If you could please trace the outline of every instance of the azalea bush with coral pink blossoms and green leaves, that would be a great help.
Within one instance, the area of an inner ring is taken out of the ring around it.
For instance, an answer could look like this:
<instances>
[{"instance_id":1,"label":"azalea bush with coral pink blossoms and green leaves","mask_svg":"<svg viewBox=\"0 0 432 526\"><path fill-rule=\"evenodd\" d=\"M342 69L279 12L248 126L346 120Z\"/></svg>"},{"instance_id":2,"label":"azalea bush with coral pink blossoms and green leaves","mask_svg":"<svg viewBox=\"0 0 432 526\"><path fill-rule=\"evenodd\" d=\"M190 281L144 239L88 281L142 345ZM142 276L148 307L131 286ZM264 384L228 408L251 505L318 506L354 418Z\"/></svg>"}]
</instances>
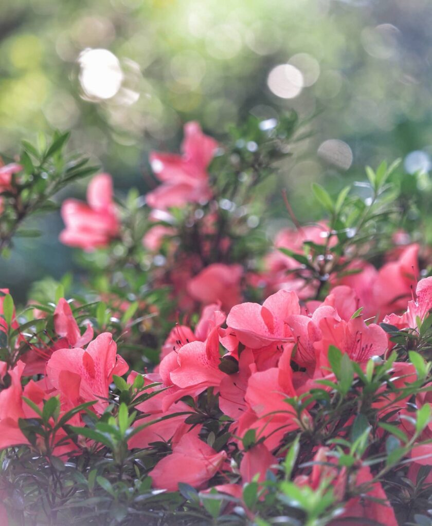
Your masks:
<instances>
[{"instance_id":1,"label":"azalea bush with coral pink blossoms and green leaves","mask_svg":"<svg viewBox=\"0 0 432 526\"><path fill-rule=\"evenodd\" d=\"M1 291L2 524L432 524L430 184L383 162L301 224L306 135L187 123L145 196L67 134L0 168L3 257L92 175L61 205L83 272Z\"/></svg>"}]
</instances>

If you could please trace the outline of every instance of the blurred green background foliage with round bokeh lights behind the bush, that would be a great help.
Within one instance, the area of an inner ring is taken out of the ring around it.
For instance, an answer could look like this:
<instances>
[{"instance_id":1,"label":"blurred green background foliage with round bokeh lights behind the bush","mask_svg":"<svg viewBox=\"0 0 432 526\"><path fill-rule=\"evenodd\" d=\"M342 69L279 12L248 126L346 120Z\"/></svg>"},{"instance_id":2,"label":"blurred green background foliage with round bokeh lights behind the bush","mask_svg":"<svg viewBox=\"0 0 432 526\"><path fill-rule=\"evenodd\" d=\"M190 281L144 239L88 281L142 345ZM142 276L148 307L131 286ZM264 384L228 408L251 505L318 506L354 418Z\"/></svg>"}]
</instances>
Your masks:
<instances>
[{"instance_id":1,"label":"blurred green background foliage with round bokeh lights behind the bush","mask_svg":"<svg viewBox=\"0 0 432 526\"><path fill-rule=\"evenodd\" d=\"M396 157L430 170L431 23L429 0L3 0L0 152L72 129L72 147L117 188L145 191L149 151L178 148L187 120L222 137L249 114L293 108L313 134L280 187L313 219L311 180L341 186ZM23 298L35 278L72 268L61 228L53 214L42 238L18 241L0 285Z\"/></svg>"}]
</instances>

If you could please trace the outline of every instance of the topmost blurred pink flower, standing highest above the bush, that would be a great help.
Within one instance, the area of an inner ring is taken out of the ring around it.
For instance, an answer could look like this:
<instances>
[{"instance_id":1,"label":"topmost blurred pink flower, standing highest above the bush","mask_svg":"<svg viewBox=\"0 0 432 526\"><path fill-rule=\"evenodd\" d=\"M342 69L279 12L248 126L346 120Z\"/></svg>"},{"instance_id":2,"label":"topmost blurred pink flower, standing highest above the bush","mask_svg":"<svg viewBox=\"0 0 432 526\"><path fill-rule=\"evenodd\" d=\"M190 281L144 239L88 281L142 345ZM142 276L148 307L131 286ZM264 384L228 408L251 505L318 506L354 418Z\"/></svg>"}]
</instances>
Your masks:
<instances>
[{"instance_id":1,"label":"topmost blurred pink flower, standing highest above the bush","mask_svg":"<svg viewBox=\"0 0 432 526\"><path fill-rule=\"evenodd\" d=\"M152 153L150 162L162 182L146 195L152 208L166 209L211 198L207 168L218 143L202 133L196 122L184 126L182 155Z\"/></svg>"}]
</instances>

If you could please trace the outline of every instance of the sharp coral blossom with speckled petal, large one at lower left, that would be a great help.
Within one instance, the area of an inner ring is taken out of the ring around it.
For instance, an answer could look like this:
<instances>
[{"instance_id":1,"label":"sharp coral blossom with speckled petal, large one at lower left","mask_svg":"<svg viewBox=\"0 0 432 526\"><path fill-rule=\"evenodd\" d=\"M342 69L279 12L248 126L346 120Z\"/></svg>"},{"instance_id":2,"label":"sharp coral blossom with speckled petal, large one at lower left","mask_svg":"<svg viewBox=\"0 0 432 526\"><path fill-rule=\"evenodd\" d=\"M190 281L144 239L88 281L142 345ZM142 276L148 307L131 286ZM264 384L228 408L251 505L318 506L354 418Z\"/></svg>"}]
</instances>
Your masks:
<instances>
[{"instance_id":1,"label":"sharp coral blossom with speckled petal, large one at lower left","mask_svg":"<svg viewBox=\"0 0 432 526\"><path fill-rule=\"evenodd\" d=\"M59 349L46 365L48 379L66 398L82 403L97 400L96 412L107 406L105 399L113 375L123 375L128 367L116 354L117 345L109 332L103 332L87 349Z\"/></svg>"}]
</instances>

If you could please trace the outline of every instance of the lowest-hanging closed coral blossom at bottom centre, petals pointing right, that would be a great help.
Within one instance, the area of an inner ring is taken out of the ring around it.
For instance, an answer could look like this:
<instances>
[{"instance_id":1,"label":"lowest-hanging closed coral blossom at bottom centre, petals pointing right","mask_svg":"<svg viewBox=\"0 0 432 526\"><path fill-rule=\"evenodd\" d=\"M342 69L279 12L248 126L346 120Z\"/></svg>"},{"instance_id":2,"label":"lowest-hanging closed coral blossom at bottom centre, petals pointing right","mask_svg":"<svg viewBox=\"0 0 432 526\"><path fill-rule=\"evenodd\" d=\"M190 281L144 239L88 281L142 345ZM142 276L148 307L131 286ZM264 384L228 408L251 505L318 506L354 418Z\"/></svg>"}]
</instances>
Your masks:
<instances>
[{"instance_id":1,"label":"lowest-hanging closed coral blossom at bottom centre, petals pointing right","mask_svg":"<svg viewBox=\"0 0 432 526\"><path fill-rule=\"evenodd\" d=\"M172 454L160 460L150 471L155 488L175 491L179 482L202 488L227 458L225 451L214 451L200 440L197 431L185 434L173 447Z\"/></svg>"}]
</instances>

